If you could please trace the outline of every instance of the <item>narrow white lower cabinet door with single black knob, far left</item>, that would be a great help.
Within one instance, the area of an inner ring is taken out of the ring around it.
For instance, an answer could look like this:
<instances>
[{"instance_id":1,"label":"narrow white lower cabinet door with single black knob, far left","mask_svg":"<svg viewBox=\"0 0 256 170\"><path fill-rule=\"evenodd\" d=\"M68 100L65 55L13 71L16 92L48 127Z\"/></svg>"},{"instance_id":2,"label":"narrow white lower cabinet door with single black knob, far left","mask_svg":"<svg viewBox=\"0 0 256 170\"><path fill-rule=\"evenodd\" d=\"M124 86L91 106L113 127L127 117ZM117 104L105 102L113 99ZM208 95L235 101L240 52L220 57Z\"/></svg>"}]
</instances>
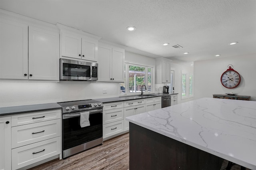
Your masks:
<instances>
[{"instance_id":1,"label":"narrow white lower cabinet door with single black knob, far left","mask_svg":"<svg viewBox=\"0 0 256 170\"><path fill-rule=\"evenodd\" d=\"M0 117L0 170L11 170L11 117Z\"/></svg>"}]
</instances>

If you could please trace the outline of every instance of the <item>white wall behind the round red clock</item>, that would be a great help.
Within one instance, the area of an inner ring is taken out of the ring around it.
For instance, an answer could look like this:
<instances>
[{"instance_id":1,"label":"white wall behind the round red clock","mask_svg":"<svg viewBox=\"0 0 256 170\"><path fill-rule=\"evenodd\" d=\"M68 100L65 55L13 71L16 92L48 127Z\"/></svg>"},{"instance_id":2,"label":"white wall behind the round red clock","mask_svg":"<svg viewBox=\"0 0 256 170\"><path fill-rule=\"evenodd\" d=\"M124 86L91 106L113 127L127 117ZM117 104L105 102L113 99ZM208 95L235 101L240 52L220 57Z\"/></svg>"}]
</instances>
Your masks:
<instances>
[{"instance_id":1,"label":"white wall behind the round red clock","mask_svg":"<svg viewBox=\"0 0 256 170\"><path fill-rule=\"evenodd\" d=\"M220 76L229 64L234 66L233 69L241 77L240 84L234 89L228 89L220 83ZM230 92L251 96L251 100L256 101L256 53L194 62L195 99Z\"/></svg>"}]
</instances>

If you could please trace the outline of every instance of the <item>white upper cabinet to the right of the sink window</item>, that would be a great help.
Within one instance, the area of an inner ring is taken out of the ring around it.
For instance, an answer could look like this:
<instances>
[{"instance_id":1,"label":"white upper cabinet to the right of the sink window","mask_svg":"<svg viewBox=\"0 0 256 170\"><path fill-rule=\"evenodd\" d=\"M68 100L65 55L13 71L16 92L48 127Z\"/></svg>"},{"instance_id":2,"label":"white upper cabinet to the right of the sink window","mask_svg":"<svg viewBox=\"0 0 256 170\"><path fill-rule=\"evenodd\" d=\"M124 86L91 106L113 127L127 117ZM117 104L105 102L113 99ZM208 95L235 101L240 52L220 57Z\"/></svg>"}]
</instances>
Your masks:
<instances>
[{"instance_id":1,"label":"white upper cabinet to the right of the sink window","mask_svg":"<svg viewBox=\"0 0 256 170\"><path fill-rule=\"evenodd\" d=\"M171 60L156 59L156 83L170 83Z\"/></svg>"}]
</instances>

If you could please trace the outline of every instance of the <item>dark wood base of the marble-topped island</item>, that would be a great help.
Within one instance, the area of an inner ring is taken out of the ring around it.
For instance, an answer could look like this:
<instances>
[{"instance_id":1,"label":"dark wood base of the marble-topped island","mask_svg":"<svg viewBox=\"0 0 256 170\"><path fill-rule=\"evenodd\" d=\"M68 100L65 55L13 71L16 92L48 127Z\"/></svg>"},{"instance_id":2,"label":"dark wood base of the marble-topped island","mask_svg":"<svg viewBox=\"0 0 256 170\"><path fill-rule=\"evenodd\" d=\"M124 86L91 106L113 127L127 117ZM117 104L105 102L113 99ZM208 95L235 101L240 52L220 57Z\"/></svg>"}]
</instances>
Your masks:
<instances>
[{"instance_id":1,"label":"dark wood base of the marble-topped island","mask_svg":"<svg viewBox=\"0 0 256 170\"><path fill-rule=\"evenodd\" d=\"M223 160L130 123L130 170L219 170Z\"/></svg>"}]
</instances>

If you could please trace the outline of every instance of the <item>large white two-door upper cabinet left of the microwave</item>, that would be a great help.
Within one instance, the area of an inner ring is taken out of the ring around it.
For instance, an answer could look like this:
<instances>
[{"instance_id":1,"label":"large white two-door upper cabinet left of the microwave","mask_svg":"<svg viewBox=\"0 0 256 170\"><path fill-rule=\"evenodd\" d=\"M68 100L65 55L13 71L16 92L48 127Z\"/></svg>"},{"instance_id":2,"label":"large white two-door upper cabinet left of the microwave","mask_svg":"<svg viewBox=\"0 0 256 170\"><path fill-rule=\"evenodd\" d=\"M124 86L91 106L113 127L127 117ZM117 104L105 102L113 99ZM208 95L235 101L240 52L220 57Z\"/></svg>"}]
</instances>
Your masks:
<instances>
[{"instance_id":1,"label":"large white two-door upper cabinet left of the microwave","mask_svg":"<svg viewBox=\"0 0 256 170\"><path fill-rule=\"evenodd\" d=\"M58 29L22 21L25 17L0 17L0 79L58 81Z\"/></svg>"}]
</instances>

